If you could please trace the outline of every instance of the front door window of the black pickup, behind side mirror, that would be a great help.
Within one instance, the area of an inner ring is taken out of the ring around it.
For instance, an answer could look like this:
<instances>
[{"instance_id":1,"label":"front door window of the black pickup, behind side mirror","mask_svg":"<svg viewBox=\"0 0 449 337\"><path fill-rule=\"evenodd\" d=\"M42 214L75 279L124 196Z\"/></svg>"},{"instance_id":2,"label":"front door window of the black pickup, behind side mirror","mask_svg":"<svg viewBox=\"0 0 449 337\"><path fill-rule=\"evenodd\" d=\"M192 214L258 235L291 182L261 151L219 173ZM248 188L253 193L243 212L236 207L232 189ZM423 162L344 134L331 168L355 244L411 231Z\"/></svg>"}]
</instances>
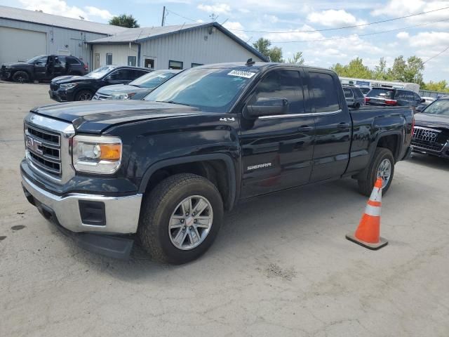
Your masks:
<instances>
[{"instance_id":1,"label":"front door window of the black pickup, behind side mirror","mask_svg":"<svg viewBox=\"0 0 449 337\"><path fill-rule=\"evenodd\" d=\"M274 70L269 72L257 84L250 102L258 98L286 98L288 100L288 114L304 113L304 94L300 73L296 70Z\"/></svg>"}]
</instances>

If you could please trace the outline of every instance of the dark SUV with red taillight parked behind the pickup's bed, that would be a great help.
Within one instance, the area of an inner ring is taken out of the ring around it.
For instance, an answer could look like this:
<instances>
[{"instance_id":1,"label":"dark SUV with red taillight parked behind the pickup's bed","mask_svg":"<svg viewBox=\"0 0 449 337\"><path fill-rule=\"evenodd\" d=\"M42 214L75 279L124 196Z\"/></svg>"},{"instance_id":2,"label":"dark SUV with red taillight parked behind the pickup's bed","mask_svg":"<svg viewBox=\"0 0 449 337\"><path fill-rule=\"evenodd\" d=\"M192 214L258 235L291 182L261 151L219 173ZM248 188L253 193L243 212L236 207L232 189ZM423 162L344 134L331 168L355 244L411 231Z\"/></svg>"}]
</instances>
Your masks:
<instances>
[{"instance_id":1,"label":"dark SUV with red taillight parked behind the pickup's bed","mask_svg":"<svg viewBox=\"0 0 449 337\"><path fill-rule=\"evenodd\" d=\"M401 107L417 107L425 100L410 90L398 88L373 88L366 95L368 105L391 105Z\"/></svg>"}]
</instances>

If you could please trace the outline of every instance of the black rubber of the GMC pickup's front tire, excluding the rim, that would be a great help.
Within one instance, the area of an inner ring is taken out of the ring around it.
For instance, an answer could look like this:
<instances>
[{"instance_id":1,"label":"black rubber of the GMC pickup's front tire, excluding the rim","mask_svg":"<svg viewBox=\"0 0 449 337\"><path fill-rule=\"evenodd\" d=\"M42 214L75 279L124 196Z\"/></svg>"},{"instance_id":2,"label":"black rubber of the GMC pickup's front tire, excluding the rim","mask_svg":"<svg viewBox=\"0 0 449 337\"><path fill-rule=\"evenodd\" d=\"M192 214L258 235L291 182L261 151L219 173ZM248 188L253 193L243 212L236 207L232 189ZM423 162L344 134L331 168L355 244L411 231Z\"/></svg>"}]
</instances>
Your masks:
<instances>
[{"instance_id":1,"label":"black rubber of the GMC pickup's front tire, excluding the rim","mask_svg":"<svg viewBox=\"0 0 449 337\"><path fill-rule=\"evenodd\" d=\"M178 204L192 195L205 197L213 209L213 223L203 242L189 250L178 249L170 239L168 224ZM157 261L182 264L205 253L222 225L223 201L217 187L209 180L191 173L181 173L162 180L142 201L138 237L142 246Z\"/></svg>"}]
</instances>

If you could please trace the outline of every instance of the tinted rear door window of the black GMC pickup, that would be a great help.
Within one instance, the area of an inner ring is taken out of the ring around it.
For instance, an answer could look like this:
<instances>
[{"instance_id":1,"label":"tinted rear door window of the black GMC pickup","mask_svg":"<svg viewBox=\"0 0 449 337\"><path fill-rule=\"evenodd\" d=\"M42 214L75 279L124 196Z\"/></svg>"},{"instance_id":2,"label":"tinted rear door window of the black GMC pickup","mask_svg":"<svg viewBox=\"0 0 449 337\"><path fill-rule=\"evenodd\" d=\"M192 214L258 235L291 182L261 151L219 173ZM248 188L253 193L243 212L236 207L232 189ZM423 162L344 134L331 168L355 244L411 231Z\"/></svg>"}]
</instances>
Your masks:
<instances>
[{"instance_id":1,"label":"tinted rear door window of the black GMC pickup","mask_svg":"<svg viewBox=\"0 0 449 337\"><path fill-rule=\"evenodd\" d=\"M330 74L309 72L311 105L315 112L333 112L340 109L337 85Z\"/></svg>"}]
</instances>

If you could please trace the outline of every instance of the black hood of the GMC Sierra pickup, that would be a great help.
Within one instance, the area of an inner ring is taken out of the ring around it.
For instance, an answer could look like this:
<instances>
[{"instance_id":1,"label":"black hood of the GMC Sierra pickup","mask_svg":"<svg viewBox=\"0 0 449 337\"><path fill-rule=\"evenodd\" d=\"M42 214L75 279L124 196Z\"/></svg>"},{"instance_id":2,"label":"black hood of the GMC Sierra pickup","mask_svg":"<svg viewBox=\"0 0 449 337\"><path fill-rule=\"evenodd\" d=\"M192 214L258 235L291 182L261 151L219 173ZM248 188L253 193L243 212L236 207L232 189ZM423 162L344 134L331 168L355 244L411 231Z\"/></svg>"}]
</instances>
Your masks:
<instances>
[{"instance_id":1,"label":"black hood of the GMC Sierra pickup","mask_svg":"<svg viewBox=\"0 0 449 337\"><path fill-rule=\"evenodd\" d=\"M114 124L132 121L205 113L187 105L147 102L145 100L100 100L58 103L35 107L31 112L71 122L76 131L83 133L101 133Z\"/></svg>"}]
</instances>

